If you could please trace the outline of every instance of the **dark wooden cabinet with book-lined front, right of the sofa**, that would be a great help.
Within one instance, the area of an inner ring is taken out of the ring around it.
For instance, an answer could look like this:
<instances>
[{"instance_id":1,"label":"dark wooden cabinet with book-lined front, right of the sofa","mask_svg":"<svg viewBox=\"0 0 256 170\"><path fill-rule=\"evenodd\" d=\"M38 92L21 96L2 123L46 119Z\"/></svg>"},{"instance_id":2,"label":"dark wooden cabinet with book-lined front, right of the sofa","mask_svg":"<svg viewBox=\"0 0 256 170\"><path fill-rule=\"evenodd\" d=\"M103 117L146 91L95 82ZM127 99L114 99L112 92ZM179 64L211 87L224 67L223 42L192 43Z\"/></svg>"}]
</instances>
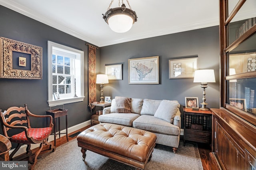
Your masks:
<instances>
[{"instance_id":1,"label":"dark wooden cabinet with book-lined front, right of the sofa","mask_svg":"<svg viewBox=\"0 0 256 170\"><path fill-rule=\"evenodd\" d=\"M183 141L212 143L212 111L192 111L183 108L184 136Z\"/></svg>"}]
</instances>

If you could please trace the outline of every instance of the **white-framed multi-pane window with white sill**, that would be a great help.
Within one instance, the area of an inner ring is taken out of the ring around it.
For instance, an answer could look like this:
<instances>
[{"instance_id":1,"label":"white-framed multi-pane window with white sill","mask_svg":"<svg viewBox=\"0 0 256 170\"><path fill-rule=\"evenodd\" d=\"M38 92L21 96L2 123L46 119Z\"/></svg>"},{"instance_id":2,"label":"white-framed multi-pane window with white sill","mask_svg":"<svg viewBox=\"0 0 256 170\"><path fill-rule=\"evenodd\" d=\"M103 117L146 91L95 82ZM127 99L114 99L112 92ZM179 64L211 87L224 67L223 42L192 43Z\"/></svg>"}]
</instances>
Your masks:
<instances>
[{"instance_id":1,"label":"white-framed multi-pane window with white sill","mask_svg":"<svg viewBox=\"0 0 256 170\"><path fill-rule=\"evenodd\" d=\"M84 52L48 41L48 104L84 100Z\"/></svg>"}]
</instances>

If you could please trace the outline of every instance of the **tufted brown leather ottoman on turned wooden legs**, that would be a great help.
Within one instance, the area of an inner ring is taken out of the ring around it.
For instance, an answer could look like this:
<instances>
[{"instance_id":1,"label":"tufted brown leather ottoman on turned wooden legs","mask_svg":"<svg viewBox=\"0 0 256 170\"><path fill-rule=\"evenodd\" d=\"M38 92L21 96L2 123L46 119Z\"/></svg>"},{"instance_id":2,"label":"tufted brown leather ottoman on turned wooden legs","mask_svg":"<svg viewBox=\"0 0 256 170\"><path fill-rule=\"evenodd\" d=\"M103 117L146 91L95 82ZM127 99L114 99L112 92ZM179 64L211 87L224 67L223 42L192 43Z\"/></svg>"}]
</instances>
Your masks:
<instances>
[{"instance_id":1,"label":"tufted brown leather ottoman on turned wooden legs","mask_svg":"<svg viewBox=\"0 0 256 170\"><path fill-rule=\"evenodd\" d=\"M78 147L82 148L83 161L86 150L91 150L124 164L144 169L156 145L156 135L132 127L100 123L80 133L77 141Z\"/></svg>"}]
</instances>

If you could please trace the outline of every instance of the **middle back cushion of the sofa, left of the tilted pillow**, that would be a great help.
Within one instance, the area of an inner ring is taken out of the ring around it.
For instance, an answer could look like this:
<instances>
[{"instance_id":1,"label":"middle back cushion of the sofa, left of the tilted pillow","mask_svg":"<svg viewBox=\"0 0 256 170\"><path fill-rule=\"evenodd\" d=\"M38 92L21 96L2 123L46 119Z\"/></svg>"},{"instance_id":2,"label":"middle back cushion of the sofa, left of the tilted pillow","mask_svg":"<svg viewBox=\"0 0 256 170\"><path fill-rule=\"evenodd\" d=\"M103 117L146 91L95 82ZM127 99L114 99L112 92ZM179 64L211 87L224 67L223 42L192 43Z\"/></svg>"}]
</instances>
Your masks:
<instances>
[{"instance_id":1,"label":"middle back cushion of the sofa, left of the tilted pillow","mask_svg":"<svg viewBox=\"0 0 256 170\"><path fill-rule=\"evenodd\" d=\"M140 114L154 115L162 100L144 99Z\"/></svg>"}]
</instances>

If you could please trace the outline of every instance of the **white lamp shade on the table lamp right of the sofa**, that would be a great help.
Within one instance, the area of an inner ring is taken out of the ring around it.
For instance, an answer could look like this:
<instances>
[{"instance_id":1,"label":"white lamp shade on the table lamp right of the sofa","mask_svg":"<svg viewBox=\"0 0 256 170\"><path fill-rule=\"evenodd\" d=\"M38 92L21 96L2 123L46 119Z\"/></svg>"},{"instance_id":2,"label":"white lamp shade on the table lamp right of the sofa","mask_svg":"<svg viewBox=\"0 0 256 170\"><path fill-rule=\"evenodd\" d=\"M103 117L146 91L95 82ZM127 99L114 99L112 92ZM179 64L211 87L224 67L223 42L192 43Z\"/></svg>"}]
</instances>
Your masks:
<instances>
[{"instance_id":1,"label":"white lamp shade on the table lamp right of the sofa","mask_svg":"<svg viewBox=\"0 0 256 170\"><path fill-rule=\"evenodd\" d=\"M215 82L214 70L196 70L194 75L194 83Z\"/></svg>"}]
</instances>

